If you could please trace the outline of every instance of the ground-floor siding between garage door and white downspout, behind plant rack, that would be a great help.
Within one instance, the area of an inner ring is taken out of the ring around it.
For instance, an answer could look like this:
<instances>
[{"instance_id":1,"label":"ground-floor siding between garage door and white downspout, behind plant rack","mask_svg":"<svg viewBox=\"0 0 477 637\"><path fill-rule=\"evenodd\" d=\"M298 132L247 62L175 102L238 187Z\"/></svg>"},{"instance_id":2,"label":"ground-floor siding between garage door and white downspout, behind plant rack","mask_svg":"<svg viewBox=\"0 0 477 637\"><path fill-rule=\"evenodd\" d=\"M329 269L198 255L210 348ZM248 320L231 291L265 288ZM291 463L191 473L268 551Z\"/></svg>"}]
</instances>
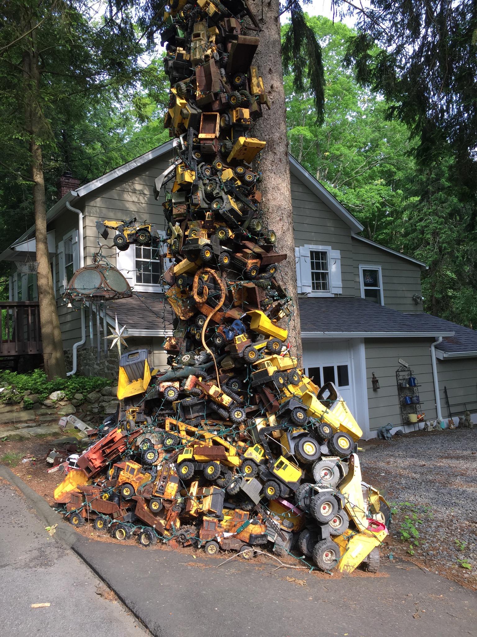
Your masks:
<instances>
[{"instance_id":1,"label":"ground-floor siding between garage door and white downspout, behind plant rack","mask_svg":"<svg viewBox=\"0 0 477 637\"><path fill-rule=\"evenodd\" d=\"M366 386L368 389L368 410L370 432L375 432L391 422L394 426L403 426L399 398L397 396L396 369L398 359L410 364L417 378L422 411L426 420L437 417L434 381L430 345L432 339L415 338L412 340L366 339ZM379 380L380 389L373 390L372 373Z\"/></svg>"}]
</instances>

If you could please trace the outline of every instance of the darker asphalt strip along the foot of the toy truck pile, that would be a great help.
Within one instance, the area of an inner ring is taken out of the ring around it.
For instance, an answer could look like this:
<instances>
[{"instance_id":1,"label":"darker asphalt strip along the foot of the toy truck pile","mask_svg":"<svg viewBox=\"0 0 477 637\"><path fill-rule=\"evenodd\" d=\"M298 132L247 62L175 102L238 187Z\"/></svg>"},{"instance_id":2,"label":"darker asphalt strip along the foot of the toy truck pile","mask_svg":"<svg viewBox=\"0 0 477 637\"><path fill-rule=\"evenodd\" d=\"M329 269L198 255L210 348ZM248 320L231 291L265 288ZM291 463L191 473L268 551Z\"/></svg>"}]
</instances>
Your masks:
<instances>
[{"instance_id":1,"label":"darker asphalt strip along the foot of the toy truck pile","mask_svg":"<svg viewBox=\"0 0 477 637\"><path fill-rule=\"evenodd\" d=\"M49 524L59 521L46 501L17 476L4 467L0 467L0 475L17 484ZM18 514L24 515L24 508ZM27 533L32 521L20 519L24 520L23 532ZM4 528L4 520L5 517L0 520L0 529ZM41 532L45 533L43 526ZM58 532L155 637L375 637L378 634L460 637L475 634L476 594L409 562L388 561L377 575L355 571L352 576L339 578L294 569L272 572L277 566L273 559L270 565L233 559L219 566L223 559L207 557L200 550L195 552L194 558L191 552L141 548L134 540L124 544L88 540L62 522ZM0 536L1 533L4 531L0 530ZM287 577L305 580L305 585L288 581ZM54 582L54 577L48 582L52 580ZM3 580L0 590L2 587ZM46 595L48 586L41 590ZM12 597L10 590L8 594ZM71 596L71 608L83 603L83 596L88 605L91 597L88 582L81 586L81 591L73 586L65 595ZM21 612L17 614L20 617L17 621L23 621L22 613L30 612L29 605L34 601L51 600L18 599L16 608ZM3 612L0 605L0 622ZM91 617L92 613L88 611L88 615ZM130 620L124 614L121 617ZM102 632L93 632L93 628L100 625L95 619L87 624L80 619L76 627L74 622L70 624L75 634L112 634L106 629L107 624ZM116 634L127 637L135 634L127 632L128 626L121 624ZM28 637L36 633L20 634ZM47 634L54 637L64 631Z\"/></svg>"}]
</instances>

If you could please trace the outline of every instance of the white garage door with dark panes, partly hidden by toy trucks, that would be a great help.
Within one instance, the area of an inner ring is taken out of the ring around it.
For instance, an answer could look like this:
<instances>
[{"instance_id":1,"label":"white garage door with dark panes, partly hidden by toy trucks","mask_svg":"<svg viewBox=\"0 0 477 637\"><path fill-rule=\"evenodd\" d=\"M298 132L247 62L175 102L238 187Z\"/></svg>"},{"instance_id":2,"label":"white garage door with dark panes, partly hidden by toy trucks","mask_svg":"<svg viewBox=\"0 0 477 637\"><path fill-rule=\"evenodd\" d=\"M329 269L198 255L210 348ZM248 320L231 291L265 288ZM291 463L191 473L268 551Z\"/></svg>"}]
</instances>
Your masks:
<instances>
[{"instance_id":1,"label":"white garage door with dark panes, partly hidden by toy trucks","mask_svg":"<svg viewBox=\"0 0 477 637\"><path fill-rule=\"evenodd\" d=\"M355 413L353 373L349 341L303 341L303 363L307 376L321 387L332 382Z\"/></svg>"}]
</instances>

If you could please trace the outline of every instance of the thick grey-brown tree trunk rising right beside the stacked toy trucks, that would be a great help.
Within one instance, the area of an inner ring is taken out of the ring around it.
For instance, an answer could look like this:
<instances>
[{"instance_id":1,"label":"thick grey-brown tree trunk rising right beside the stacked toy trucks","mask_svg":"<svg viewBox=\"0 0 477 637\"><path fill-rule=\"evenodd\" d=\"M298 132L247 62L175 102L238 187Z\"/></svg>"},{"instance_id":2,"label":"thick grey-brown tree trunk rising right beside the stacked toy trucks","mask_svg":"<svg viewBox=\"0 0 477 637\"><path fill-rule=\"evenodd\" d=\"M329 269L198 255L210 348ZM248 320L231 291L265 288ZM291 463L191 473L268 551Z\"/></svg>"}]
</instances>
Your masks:
<instances>
[{"instance_id":1,"label":"thick grey-brown tree trunk rising right beside the stacked toy trucks","mask_svg":"<svg viewBox=\"0 0 477 637\"><path fill-rule=\"evenodd\" d=\"M280 264L280 274L284 287L288 290L294 304L289 323L289 340L294 353L301 360L300 310L296 292L293 208L280 40L280 5L279 0L270 0L263 4L262 0L251 0L250 6L261 27L260 44L254 57L254 64L258 66L259 74L263 77L265 90L272 104L270 111L263 107L263 117L252 129L252 136L266 141L259 163L259 169L263 173L262 209L268 227L277 233L277 250L288 255L287 260Z\"/></svg>"}]
</instances>

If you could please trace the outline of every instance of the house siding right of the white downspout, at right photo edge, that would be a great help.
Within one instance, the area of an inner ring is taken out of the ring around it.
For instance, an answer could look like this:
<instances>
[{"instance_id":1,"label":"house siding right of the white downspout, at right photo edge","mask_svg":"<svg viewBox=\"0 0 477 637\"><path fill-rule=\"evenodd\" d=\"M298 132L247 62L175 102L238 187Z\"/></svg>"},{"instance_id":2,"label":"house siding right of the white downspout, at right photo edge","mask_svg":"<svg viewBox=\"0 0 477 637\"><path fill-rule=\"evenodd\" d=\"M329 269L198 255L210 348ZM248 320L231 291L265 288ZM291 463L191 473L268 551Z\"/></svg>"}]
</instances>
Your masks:
<instances>
[{"instance_id":1,"label":"house siding right of the white downspout, at right photo edge","mask_svg":"<svg viewBox=\"0 0 477 637\"><path fill-rule=\"evenodd\" d=\"M473 414L477 413L477 358L438 360L437 369L443 418L448 417L444 387L447 388L455 424L466 408Z\"/></svg>"}]
</instances>

